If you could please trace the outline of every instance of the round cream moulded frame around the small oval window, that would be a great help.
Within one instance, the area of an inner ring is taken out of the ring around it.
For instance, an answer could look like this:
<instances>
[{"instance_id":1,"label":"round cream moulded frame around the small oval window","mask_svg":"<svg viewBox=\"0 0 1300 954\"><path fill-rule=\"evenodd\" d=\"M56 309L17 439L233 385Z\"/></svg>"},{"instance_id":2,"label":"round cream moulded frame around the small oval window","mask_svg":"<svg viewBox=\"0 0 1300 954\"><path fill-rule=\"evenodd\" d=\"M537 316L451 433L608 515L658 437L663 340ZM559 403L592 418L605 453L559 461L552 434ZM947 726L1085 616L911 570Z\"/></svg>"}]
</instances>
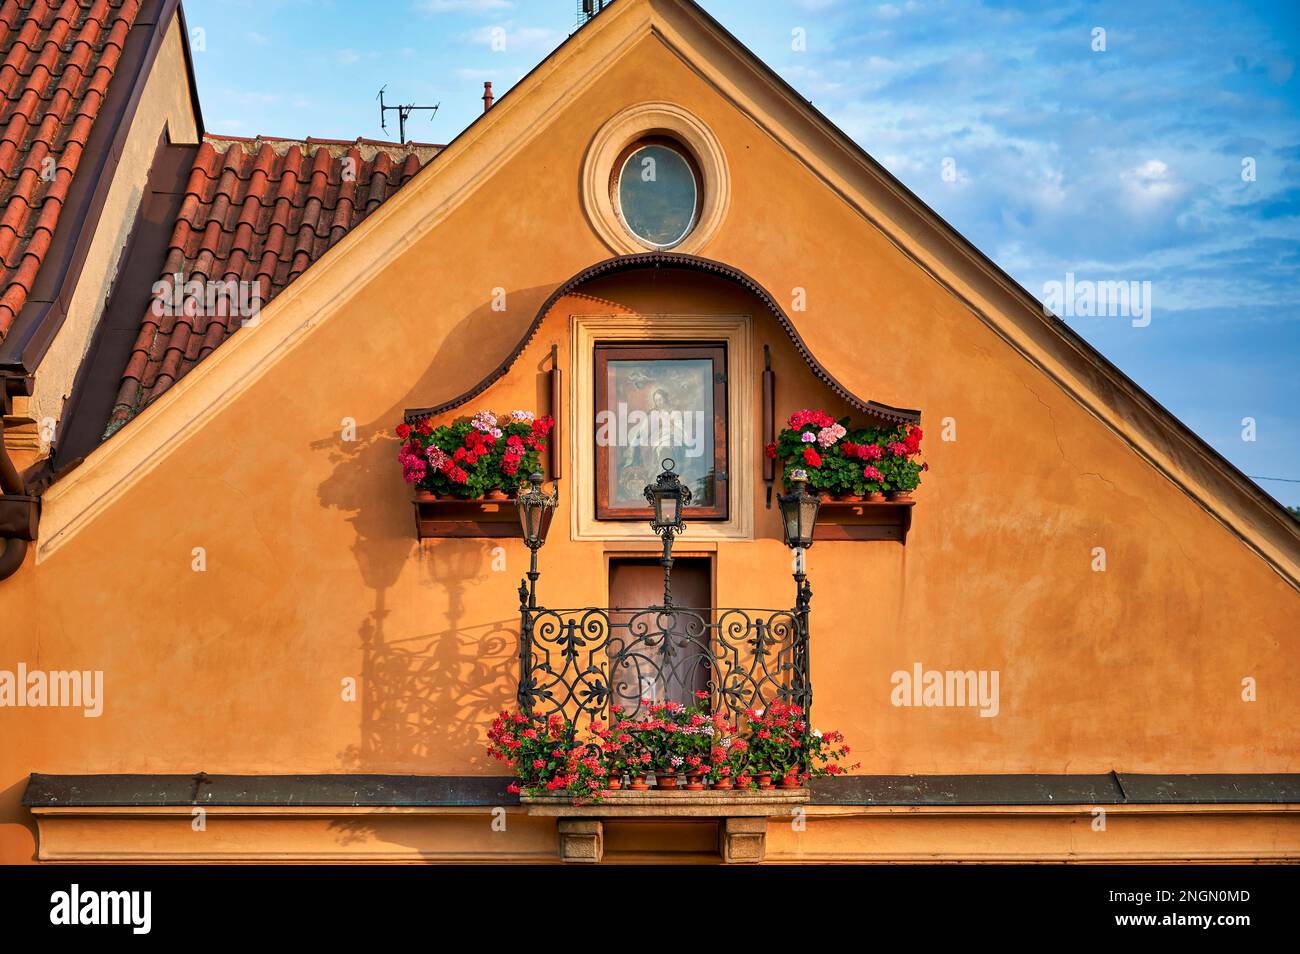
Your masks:
<instances>
[{"instance_id":1,"label":"round cream moulded frame around the small oval window","mask_svg":"<svg viewBox=\"0 0 1300 954\"><path fill-rule=\"evenodd\" d=\"M623 159L647 140L662 139L693 162L696 224L673 246L638 238L623 221L615 188ZM582 208L592 229L618 255L646 251L698 253L718 233L731 203L731 174L718 136L694 114L672 103L641 103L616 113L597 130L582 160Z\"/></svg>"}]
</instances>

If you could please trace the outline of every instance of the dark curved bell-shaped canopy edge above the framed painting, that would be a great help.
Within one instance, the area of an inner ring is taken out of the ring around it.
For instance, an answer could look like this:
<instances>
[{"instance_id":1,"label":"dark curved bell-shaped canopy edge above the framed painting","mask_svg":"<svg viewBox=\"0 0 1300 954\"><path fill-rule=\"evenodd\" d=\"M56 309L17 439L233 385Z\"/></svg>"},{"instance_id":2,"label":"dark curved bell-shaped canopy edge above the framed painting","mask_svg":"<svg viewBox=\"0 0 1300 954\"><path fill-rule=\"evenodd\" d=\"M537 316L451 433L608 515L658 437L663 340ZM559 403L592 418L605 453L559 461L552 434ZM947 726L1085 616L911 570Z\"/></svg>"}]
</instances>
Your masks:
<instances>
[{"instance_id":1,"label":"dark curved bell-shaped canopy edge above the framed painting","mask_svg":"<svg viewBox=\"0 0 1300 954\"><path fill-rule=\"evenodd\" d=\"M597 278L606 278L608 276L642 269L682 269L688 272L702 272L705 274L718 276L719 278L725 278L736 285L740 285L767 307L767 309L776 318L777 324L780 324L780 326L785 330L785 334L789 335L790 343L807 363L812 374L822 383L835 391L835 394L837 394L841 399L848 402L854 409L878 417L889 424L918 424L920 421L920 411L890 407L889 404L881 404L880 402L867 400L864 398L859 398L857 394L841 385L840 381L831 372L828 372L822 363L816 360L816 357L814 357L809 346L803 343L803 338L800 337L798 330L794 328L794 322L790 320L790 316L785 313L785 309L780 305L780 303L772 298L767 289L741 272L738 268L733 268L732 265L727 265L722 261L714 261L712 259L705 259L698 255L685 255L682 252L641 252L637 255L619 255L612 259L606 259L604 261L598 261L563 282L542 303L542 307L537 311L532 324L529 324L528 330L524 331L524 337L519 339L519 343L515 344L514 350L499 365L497 365L494 370L491 370L473 387L458 394L450 400L445 400L433 407L408 409L406 412L406 422L413 424L424 420L425 417L433 417L436 415L452 411L462 404L473 400L491 387L511 369L523 354L524 348L528 347L528 343L533 339L533 335L537 334L537 329L541 328L542 321L546 320L546 316L550 313L551 308L555 307L555 303L569 292L576 291L582 285Z\"/></svg>"}]
</instances>

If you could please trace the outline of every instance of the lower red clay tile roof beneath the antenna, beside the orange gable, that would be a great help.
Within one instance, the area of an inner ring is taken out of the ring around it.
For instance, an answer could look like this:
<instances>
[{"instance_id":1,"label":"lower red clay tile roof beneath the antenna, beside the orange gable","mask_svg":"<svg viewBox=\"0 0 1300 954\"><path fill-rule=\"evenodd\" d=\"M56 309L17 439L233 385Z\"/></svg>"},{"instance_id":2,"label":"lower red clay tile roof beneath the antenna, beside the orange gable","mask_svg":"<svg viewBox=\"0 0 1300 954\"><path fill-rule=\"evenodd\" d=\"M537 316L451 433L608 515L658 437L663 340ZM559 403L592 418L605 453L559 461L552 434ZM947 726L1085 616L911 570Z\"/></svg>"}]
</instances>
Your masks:
<instances>
[{"instance_id":1,"label":"lower red clay tile roof beneath the antenna, beside the orange gable","mask_svg":"<svg viewBox=\"0 0 1300 954\"><path fill-rule=\"evenodd\" d=\"M179 273L185 282L256 282L265 304L391 198L439 148L369 139L205 136L190 170L160 281L170 282ZM168 315L169 309L156 304L159 296L142 318L107 434L139 413L244 321L224 302L216 309L187 308L183 311L192 313L182 315Z\"/></svg>"}]
</instances>

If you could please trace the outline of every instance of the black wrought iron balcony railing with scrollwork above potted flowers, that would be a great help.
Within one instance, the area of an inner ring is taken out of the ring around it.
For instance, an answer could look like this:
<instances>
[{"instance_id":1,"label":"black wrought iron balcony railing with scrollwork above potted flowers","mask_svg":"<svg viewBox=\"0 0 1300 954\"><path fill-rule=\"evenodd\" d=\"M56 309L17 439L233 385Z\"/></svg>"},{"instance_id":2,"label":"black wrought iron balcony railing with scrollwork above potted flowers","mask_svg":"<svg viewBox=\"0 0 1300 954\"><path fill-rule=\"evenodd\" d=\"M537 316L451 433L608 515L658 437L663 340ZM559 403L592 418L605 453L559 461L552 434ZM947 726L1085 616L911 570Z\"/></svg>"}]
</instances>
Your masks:
<instances>
[{"instance_id":1,"label":"black wrought iron balcony railing with scrollwork above potted flowers","mask_svg":"<svg viewBox=\"0 0 1300 954\"><path fill-rule=\"evenodd\" d=\"M636 717L644 701L690 702L738 715L774 701L811 708L809 608L796 574L793 610L653 606L550 610L520 585L519 706L571 719Z\"/></svg>"}]
</instances>

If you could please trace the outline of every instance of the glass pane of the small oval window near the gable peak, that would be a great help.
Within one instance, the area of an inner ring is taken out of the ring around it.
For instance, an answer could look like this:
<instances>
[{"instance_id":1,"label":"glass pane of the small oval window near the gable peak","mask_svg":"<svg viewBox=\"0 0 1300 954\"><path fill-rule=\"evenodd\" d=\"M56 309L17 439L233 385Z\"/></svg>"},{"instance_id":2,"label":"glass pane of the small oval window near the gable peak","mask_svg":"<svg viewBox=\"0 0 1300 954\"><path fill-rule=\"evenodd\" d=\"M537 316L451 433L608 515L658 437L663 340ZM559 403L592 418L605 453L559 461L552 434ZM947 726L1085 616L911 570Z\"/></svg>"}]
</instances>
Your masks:
<instances>
[{"instance_id":1,"label":"glass pane of the small oval window near the gable peak","mask_svg":"<svg viewBox=\"0 0 1300 954\"><path fill-rule=\"evenodd\" d=\"M696 175L667 146L642 146L619 174L619 209L637 238L659 248L686 238L696 224Z\"/></svg>"}]
</instances>

